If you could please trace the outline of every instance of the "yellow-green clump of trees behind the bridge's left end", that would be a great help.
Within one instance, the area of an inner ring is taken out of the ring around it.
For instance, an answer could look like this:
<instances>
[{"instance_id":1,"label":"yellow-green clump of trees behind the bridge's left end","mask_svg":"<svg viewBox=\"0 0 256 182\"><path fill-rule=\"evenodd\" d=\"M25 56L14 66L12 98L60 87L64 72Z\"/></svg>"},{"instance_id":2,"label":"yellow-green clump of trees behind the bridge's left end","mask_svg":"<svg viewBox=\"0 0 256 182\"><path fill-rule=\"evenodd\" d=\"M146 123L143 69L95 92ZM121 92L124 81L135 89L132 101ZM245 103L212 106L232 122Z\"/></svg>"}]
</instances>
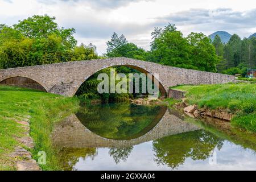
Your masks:
<instances>
[{"instance_id":1,"label":"yellow-green clump of trees behind the bridge's left end","mask_svg":"<svg viewBox=\"0 0 256 182\"><path fill-rule=\"evenodd\" d=\"M13 27L0 24L0 68L97 59L93 44L76 47L74 28L58 28L55 17L34 15Z\"/></svg>"}]
</instances>

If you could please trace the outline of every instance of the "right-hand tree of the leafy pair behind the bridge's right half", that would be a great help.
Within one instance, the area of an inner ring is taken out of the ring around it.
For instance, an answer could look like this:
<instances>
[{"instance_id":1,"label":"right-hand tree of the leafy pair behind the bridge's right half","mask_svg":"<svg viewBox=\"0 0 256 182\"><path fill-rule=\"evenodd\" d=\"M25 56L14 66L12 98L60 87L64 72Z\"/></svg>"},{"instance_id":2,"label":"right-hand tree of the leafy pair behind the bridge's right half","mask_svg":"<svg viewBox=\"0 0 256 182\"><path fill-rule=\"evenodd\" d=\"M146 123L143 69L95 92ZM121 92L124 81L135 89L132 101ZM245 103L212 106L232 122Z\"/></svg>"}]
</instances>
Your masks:
<instances>
[{"instance_id":1,"label":"right-hand tree of the leafy pair behind the bridge's right half","mask_svg":"<svg viewBox=\"0 0 256 182\"><path fill-rule=\"evenodd\" d=\"M201 71L216 72L218 57L210 39L203 33L194 33L188 35L187 40L190 45L189 57L193 66Z\"/></svg>"}]
</instances>

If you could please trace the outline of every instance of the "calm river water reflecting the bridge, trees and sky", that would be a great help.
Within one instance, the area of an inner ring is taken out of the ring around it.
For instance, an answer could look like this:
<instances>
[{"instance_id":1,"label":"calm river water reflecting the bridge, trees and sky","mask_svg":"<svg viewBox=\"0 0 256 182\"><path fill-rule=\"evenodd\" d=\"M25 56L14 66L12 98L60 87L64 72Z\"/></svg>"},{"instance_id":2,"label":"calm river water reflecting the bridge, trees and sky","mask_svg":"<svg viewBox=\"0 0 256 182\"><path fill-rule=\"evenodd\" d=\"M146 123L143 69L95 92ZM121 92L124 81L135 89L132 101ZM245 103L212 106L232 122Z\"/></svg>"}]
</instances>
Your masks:
<instances>
[{"instance_id":1,"label":"calm river water reflecting the bridge, trees and sky","mask_svg":"<svg viewBox=\"0 0 256 182\"><path fill-rule=\"evenodd\" d=\"M64 170L256 169L255 135L165 106L82 107L52 139Z\"/></svg>"}]
</instances>

